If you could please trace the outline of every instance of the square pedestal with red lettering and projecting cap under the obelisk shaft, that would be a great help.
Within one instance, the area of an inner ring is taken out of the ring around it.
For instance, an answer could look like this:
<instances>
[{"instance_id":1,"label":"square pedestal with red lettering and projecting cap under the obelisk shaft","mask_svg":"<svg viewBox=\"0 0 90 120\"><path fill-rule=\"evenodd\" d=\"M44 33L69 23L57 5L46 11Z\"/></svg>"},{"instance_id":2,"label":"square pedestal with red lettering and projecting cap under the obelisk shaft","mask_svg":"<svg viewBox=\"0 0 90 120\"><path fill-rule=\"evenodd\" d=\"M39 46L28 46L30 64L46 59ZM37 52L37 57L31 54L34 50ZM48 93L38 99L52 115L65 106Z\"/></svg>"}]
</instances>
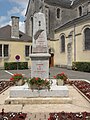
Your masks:
<instances>
[{"instance_id":1,"label":"square pedestal with red lettering and projecting cap under the obelisk shaft","mask_svg":"<svg viewBox=\"0 0 90 120\"><path fill-rule=\"evenodd\" d=\"M49 53L30 54L31 78L40 77L42 79L49 78Z\"/></svg>"}]
</instances>

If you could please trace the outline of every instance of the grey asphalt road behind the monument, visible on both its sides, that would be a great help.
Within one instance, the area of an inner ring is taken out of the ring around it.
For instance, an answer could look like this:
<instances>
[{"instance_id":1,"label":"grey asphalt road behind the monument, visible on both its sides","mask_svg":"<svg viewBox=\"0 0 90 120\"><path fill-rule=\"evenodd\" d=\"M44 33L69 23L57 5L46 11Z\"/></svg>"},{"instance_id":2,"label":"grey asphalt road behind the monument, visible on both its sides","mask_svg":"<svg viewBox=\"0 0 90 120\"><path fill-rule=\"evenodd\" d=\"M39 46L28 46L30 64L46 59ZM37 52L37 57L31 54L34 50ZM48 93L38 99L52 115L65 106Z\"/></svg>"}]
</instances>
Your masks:
<instances>
[{"instance_id":1,"label":"grey asphalt road behind the monument, visible on both its sides","mask_svg":"<svg viewBox=\"0 0 90 120\"><path fill-rule=\"evenodd\" d=\"M26 77L30 77L30 72L31 70L9 70L8 72L10 73L22 73ZM52 78L54 75L57 73L65 72L70 79L87 79L90 81L90 73L87 72L79 72L79 71L73 71L73 70L67 70L64 68L57 68L57 67L52 67L50 68L50 78ZM11 77L10 74L5 72L5 70L0 70L0 79L9 79Z\"/></svg>"}]
</instances>

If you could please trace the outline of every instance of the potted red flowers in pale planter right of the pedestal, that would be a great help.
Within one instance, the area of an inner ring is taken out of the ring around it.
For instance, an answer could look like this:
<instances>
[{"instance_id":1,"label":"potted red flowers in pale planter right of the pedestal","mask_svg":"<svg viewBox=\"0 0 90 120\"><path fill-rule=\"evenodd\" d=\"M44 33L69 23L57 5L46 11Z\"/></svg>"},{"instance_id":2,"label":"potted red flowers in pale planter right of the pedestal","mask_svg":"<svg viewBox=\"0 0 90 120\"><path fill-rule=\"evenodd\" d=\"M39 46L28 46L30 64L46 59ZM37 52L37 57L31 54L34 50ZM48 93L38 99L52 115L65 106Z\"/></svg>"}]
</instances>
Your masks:
<instances>
[{"instance_id":1,"label":"potted red flowers in pale planter right of the pedestal","mask_svg":"<svg viewBox=\"0 0 90 120\"><path fill-rule=\"evenodd\" d=\"M57 85L64 85L68 79L64 72L57 74L54 78L57 80Z\"/></svg>"}]
</instances>

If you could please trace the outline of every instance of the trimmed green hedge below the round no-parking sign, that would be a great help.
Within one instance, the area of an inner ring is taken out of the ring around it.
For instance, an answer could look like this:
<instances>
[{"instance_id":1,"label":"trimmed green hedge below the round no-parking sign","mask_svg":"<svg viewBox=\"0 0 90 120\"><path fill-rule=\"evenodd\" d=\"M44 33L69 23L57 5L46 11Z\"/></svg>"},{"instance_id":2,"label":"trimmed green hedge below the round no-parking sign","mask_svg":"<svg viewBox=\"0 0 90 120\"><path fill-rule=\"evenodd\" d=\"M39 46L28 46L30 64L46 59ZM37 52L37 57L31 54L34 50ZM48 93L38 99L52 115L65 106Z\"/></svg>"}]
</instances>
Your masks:
<instances>
[{"instance_id":1,"label":"trimmed green hedge below the round no-parking sign","mask_svg":"<svg viewBox=\"0 0 90 120\"><path fill-rule=\"evenodd\" d=\"M5 70L28 69L28 62L5 62L4 69Z\"/></svg>"}]
</instances>

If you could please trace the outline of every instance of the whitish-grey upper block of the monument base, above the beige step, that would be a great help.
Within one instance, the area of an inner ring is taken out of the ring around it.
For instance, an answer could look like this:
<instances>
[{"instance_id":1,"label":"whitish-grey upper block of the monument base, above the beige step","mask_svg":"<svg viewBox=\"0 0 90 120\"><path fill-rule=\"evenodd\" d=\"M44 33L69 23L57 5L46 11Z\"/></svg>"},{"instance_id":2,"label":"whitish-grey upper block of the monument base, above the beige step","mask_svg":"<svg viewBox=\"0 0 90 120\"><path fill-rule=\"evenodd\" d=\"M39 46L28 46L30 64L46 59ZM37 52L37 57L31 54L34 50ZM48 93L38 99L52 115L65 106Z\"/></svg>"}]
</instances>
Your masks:
<instances>
[{"instance_id":1,"label":"whitish-grey upper block of the monument base, above the beige step","mask_svg":"<svg viewBox=\"0 0 90 120\"><path fill-rule=\"evenodd\" d=\"M35 98L35 97L69 97L67 86L52 85L51 89L42 89L33 91L28 88L28 85L11 87L10 98Z\"/></svg>"}]
</instances>

